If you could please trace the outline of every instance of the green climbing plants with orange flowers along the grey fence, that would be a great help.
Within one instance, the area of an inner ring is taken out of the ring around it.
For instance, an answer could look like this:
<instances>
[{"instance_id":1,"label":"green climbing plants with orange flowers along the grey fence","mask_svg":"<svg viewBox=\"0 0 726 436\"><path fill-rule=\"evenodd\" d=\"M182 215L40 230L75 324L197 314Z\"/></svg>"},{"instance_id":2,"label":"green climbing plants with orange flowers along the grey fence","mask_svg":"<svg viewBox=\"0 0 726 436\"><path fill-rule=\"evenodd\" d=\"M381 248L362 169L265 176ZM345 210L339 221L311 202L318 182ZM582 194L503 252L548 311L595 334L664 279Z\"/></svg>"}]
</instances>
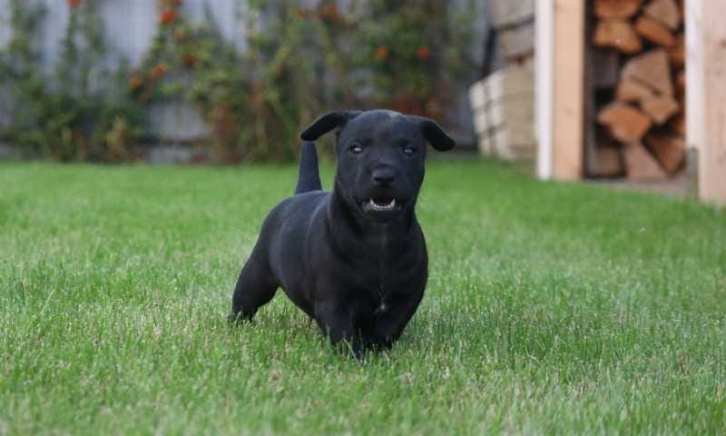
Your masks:
<instances>
[{"instance_id":1,"label":"green climbing plants with orange flowers along the grey fence","mask_svg":"<svg viewBox=\"0 0 726 436\"><path fill-rule=\"evenodd\" d=\"M131 159L148 105L186 101L210 127L205 144L215 161L289 160L303 124L332 107L440 119L467 71L472 15L434 0L353 1L345 11L330 0L313 8L240 0L248 29L241 54L211 14L192 25L182 0L159 0L142 63L108 71L97 2L68 0L61 61L43 74L32 41L45 11L37 1L11 1L14 32L0 52L0 87L12 90L13 123L0 134L25 155Z\"/></svg>"}]
</instances>

